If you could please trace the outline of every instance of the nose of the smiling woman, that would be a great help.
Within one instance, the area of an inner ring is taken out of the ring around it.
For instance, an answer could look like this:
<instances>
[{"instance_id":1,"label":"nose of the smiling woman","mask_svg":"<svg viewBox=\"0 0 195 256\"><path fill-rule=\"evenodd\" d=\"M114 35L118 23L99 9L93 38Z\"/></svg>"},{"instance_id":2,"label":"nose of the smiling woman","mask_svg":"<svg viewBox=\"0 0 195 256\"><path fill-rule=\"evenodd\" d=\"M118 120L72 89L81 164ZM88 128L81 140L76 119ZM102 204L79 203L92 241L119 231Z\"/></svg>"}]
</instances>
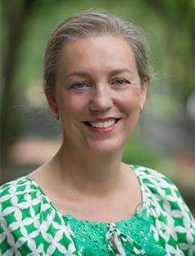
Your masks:
<instances>
[{"instance_id":1,"label":"nose of the smiling woman","mask_svg":"<svg viewBox=\"0 0 195 256\"><path fill-rule=\"evenodd\" d=\"M90 109L93 111L107 111L111 109L113 101L111 88L107 85L97 86L93 91L93 98L90 102Z\"/></svg>"}]
</instances>

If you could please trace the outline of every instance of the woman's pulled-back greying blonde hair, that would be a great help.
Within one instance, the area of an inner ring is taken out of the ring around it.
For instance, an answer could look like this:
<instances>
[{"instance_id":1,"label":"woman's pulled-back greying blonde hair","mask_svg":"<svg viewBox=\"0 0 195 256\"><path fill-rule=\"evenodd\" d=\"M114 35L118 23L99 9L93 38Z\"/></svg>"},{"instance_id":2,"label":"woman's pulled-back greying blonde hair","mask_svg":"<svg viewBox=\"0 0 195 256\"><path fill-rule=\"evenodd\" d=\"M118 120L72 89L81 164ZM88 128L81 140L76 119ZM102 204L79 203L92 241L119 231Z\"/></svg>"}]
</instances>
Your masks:
<instances>
[{"instance_id":1,"label":"woman's pulled-back greying blonde hair","mask_svg":"<svg viewBox=\"0 0 195 256\"><path fill-rule=\"evenodd\" d=\"M61 23L48 40L44 58L44 86L52 93L55 90L56 72L62 45L87 37L101 35L120 36L134 53L138 75L142 81L152 75L149 65L149 44L143 31L131 21L115 16L102 9L88 9L70 16Z\"/></svg>"}]
</instances>

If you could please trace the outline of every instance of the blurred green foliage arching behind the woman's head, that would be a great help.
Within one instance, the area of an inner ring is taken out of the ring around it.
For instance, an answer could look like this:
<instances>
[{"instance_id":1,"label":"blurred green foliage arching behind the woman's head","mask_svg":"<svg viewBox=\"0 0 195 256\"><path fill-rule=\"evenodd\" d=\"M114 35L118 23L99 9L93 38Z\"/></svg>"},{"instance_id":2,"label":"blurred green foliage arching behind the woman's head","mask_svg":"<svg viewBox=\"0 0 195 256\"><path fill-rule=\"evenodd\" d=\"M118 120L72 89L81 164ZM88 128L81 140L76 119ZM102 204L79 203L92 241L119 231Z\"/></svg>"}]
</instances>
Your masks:
<instances>
[{"instance_id":1,"label":"blurred green foliage arching behind the woman's head","mask_svg":"<svg viewBox=\"0 0 195 256\"><path fill-rule=\"evenodd\" d=\"M16 84L23 89L42 79L44 49L52 30L67 16L90 7L130 17L143 27L152 45L154 68L161 71L157 77L185 104L193 91L194 47L193 1L185 0L34 1L18 49Z\"/></svg>"}]
</instances>

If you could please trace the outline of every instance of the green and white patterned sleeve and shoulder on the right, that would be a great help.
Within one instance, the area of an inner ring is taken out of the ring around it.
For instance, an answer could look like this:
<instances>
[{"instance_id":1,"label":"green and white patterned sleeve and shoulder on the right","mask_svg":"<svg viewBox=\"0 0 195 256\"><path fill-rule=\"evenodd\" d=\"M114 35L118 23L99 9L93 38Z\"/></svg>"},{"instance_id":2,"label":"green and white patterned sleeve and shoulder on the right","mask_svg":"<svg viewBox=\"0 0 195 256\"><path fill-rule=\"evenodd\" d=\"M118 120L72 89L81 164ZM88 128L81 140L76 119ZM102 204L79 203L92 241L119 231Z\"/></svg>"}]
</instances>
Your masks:
<instances>
[{"instance_id":1,"label":"green and white patterned sleeve and shoulder on the right","mask_svg":"<svg viewBox=\"0 0 195 256\"><path fill-rule=\"evenodd\" d=\"M143 166L133 166L133 169L138 175L143 202L148 202L156 240L174 255L183 255L181 251L190 254L189 249L195 241L195 223L179 189L156 170Z\"/></svg>"}]
</instances>

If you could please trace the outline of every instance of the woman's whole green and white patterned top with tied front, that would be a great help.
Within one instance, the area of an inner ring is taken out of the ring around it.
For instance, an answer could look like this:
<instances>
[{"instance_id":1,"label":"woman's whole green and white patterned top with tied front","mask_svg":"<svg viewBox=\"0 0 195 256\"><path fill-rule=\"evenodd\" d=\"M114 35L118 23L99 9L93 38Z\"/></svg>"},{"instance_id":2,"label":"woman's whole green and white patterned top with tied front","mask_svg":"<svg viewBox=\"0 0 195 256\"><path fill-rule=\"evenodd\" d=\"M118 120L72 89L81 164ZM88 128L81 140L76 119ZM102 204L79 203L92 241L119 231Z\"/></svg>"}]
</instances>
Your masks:
<instances>
[{"instance_id":1,"label":"woman's whole green and white patterned top with tied front","mask_svg":"<svg viewBox=\"0 0 195 256\"><path fill-rule=\"evenodd\" d=\"M131 167L141 186L141 209L112 223L62 215L28 177L3 184L0 255L195 255L193 216L175 184L155 170Z\"/></svg>"}]
</instances>

